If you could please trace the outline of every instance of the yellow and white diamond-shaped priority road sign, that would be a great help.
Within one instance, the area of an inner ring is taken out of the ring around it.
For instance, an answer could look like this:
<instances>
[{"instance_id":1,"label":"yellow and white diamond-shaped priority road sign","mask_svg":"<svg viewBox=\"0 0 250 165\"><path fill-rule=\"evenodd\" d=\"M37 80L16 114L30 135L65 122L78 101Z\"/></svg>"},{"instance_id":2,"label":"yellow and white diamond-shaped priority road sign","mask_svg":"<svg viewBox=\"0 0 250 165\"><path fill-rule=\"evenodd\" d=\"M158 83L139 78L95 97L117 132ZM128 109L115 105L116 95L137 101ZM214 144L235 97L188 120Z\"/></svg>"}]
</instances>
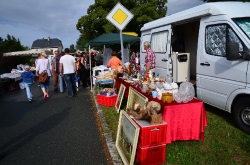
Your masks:
<instances>
[{"instance_id":1,"label":"yellow and white diamond-shaped priority road sign","mask_svg":"<svg viewBox=\"0 0 250 165\"><path fill-rule=\"evenodd\" d=\"M134 15L118 2L107 15L106 19L118 29L123 30L133 17Z\"/></svg>"}]
</instances>

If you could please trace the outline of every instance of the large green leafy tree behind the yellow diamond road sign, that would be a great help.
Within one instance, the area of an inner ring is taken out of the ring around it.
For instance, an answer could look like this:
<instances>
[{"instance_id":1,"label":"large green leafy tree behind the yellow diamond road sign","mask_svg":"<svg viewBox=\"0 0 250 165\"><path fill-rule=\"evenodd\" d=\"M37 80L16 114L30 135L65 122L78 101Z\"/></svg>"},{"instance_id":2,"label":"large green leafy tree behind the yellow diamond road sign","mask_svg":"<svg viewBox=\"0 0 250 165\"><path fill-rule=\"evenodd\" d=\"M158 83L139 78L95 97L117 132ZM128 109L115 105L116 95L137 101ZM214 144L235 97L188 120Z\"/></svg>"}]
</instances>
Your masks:
<instances>
[{"instance_id":1,"label":"large green leafy tree behind the yellow diamond road sign","mask_svg":"<svg viewBox=\"0 0 250 165\"><path fill-rule=\"evenodd\" d=\"M167 0L95 0L87 10L87 15L82 16L76 29L82 37L89 41L104 33L118 32L119 30L106 20L106 16L112 8L120 2L134 14L133 19L123 31L140 34L143 24L164 17L167 12Z\"/></svg>"}]
</instances>

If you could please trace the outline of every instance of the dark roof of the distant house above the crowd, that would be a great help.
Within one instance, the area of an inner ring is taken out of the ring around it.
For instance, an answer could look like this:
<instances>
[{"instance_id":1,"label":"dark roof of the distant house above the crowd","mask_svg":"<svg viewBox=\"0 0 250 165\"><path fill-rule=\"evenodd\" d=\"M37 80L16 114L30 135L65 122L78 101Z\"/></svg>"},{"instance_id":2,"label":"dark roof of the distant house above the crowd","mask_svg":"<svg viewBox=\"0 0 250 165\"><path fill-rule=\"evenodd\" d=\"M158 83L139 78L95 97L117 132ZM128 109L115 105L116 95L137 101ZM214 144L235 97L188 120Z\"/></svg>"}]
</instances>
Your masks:
<instances>
[{"instance_id":1,"label":"dark roof of the distant house above the crowd","mask_svg":"<svg viewBox=\"0 0 250 165\"><path fill-rule=\"evenodd\" d=\"M31 46L31 49L58 48L60 46L62 46L62 41L59 40L58 38L46 38L46 39L35 40Z\"/></svg>"}]
</instances>

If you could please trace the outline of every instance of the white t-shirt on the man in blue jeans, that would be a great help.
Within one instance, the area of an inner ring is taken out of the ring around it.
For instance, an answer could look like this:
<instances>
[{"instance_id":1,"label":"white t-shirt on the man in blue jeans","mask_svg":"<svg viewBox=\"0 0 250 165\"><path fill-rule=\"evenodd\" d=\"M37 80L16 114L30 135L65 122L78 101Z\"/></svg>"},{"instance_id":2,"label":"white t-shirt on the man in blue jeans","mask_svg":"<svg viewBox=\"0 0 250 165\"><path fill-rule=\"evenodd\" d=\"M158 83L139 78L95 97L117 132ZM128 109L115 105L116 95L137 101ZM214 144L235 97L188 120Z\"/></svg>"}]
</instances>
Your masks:
<instances>
[{"instance_id":1,"label":"white t-shirt on the man in blue jeans","mask_svg":"<svg viewBox=\"0 0 250 165\"><path fill-rule=\"evenodd\" d=\"M73 56L65 54L60 58L60 64L63 64L63 74L75 73L75 58Z\"/></svg>"}]
</instances>

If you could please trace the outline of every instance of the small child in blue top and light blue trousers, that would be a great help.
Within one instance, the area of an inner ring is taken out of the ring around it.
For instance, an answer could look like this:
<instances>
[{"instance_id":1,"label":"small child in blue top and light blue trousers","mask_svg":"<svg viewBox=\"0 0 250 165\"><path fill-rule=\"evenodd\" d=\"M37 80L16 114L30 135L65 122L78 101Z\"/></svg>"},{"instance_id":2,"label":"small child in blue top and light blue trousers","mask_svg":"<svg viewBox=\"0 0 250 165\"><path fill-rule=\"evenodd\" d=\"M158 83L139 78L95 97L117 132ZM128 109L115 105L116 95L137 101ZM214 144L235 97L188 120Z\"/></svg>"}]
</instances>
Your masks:
<instances>
[{"instance_id":1,"label":"small child in blue top and light blue trousers","mask_svg":"<svg viewBox=\"0 0 250 165\"><path fill-rule=\"evenodd\" d=\"M32 78L36 77L36 75L30 71L30 66L26 65L24 66L24 69L25 71L21 74L21 77L23 78L23 84L26 88L27 98L29 102L31 102L33 95L32 95L30 87L33 83Z\"/></svg>"}]
</instances>

